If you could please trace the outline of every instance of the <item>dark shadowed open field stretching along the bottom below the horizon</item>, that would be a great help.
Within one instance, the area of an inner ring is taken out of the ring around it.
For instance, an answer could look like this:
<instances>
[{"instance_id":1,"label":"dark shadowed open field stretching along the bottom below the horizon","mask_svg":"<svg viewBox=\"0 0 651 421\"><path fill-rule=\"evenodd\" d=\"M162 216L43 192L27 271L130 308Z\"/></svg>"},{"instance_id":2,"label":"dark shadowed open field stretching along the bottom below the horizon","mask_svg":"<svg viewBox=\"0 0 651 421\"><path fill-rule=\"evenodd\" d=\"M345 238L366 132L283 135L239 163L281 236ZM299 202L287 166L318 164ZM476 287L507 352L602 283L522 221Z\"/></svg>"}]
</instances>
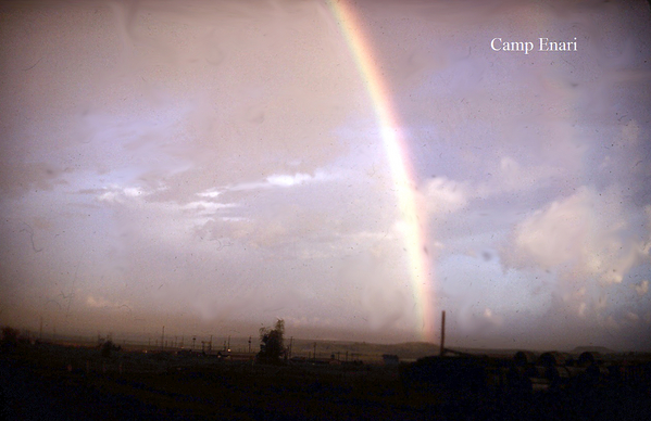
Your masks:
<instances>
[{"instance_id":1,"label":"dark shadowed open field stretching along the bottom below the horizon","mask_svg":"<svg viewBox=\"0 0 651 421\"><path fill-rule=\"evenodd\" d=\"M92 347L23 343L5 350L1 365L5 419L611 420L651 413L649 363L639 358L616 366L636 368L637 378L603 374L590 387L547 382L540 393L522 386L513 358L268 366L201 354L102 357Z\"/></svg>"}]
</instances>

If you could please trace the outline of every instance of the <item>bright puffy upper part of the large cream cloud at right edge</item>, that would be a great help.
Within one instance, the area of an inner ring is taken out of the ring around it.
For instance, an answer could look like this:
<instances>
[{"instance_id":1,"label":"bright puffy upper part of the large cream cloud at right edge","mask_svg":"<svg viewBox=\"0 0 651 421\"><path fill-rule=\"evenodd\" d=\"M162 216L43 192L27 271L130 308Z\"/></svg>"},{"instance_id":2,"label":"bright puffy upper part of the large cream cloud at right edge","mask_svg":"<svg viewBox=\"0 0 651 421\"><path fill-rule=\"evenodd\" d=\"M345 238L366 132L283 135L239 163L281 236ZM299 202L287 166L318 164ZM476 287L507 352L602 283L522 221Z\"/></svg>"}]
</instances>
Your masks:
<instances>
[{"instance_id":1,"label":"bright puffy upper part of the large cream cloud at right edge","mask_svg":"<svg viewBox=\"0 0 651 421\"><path fill-rule=\"evenodd\" d=\"M515 268L558 270L561 277L621 283L648 255L627 231L628 217L614 190L581 188L536 210L513 230L502 260Z\"/></svg>"}]
</instances>

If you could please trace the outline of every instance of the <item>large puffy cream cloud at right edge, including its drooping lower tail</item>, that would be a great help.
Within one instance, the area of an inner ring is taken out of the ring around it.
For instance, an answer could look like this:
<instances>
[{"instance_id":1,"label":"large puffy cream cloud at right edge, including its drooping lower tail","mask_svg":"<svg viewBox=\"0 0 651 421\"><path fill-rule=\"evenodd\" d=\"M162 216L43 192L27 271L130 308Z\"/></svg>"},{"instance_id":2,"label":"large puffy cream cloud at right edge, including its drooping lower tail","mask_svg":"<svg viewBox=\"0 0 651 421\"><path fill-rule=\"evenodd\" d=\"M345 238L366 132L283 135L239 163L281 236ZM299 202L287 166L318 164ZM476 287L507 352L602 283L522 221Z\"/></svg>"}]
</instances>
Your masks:
<instances>
[{"instance_id":1,"label":"large puffy cream cloud at right edge, including its drooping lower tail","mask_svg":"<svg viewBox=\"0 0 651 421\"><path fill-rule=\"evenodd\" d=\"M504 270L549 272L550 294L567 315L601 319L615 304L606 289L623 283L649 254L651 225L639 224L642 215L627 205L617 189L588 187L549 203L512 228L500 248ZM640 295L648 289L643 282L634 288ZM602 327L618 324L611 317Z\"/></svg>"}]
</instances>

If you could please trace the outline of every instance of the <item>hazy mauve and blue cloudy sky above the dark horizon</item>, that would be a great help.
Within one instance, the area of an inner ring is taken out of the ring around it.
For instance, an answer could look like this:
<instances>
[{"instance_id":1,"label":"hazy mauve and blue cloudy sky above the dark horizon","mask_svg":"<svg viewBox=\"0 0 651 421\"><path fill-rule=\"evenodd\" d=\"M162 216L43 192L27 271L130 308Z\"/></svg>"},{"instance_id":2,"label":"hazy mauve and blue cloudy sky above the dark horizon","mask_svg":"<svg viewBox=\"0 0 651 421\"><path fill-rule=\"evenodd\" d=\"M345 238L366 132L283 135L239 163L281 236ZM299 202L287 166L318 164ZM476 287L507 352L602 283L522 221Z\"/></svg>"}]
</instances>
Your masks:
<instances>
[{"instance_id":1,"label":"hazy mauve and blue cloudy sky above the dark horizon","mask_svg":"<svg viewBox=\"0 0 651 421\"><path fill-rule=\"evenodd\" d=\"M3 2L0 324L651 349L650 20Z\"/></svg>"}]
</instances>

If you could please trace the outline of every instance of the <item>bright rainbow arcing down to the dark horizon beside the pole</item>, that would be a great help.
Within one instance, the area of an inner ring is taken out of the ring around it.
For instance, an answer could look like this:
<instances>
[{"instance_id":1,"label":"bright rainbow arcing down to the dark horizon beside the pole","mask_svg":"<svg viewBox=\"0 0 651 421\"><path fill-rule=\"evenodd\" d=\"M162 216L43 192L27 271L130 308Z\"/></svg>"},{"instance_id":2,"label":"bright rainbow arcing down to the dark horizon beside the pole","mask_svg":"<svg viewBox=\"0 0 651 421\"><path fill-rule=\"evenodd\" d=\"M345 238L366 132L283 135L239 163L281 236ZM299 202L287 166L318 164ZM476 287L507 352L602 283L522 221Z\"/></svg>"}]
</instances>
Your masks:
<instances>
[{"instance_id":1,"label":"bright rainbow arcing down to the dark horizon beside the pole","mask_svg":"<svg viewBox=\"0 0 651 421\"><path fill-rule=\"evenodd\" d=\"M328 0L329 7L339 24L341 34L356 63L360 75L371 97L377 118L381 140L389 161L391 178L396 186L398 205L405 224L404 241L408 252L411 284L415 299L417 331L425 341L434 340L434 303L429 289L433 272L426 248L425 215L417 205L413 189L414 178L409 171L404 139L396 112L391 110L390 94L374 61L371 42L362 31L352 8L341 0Z\"/></svg>"}]
</instances>

